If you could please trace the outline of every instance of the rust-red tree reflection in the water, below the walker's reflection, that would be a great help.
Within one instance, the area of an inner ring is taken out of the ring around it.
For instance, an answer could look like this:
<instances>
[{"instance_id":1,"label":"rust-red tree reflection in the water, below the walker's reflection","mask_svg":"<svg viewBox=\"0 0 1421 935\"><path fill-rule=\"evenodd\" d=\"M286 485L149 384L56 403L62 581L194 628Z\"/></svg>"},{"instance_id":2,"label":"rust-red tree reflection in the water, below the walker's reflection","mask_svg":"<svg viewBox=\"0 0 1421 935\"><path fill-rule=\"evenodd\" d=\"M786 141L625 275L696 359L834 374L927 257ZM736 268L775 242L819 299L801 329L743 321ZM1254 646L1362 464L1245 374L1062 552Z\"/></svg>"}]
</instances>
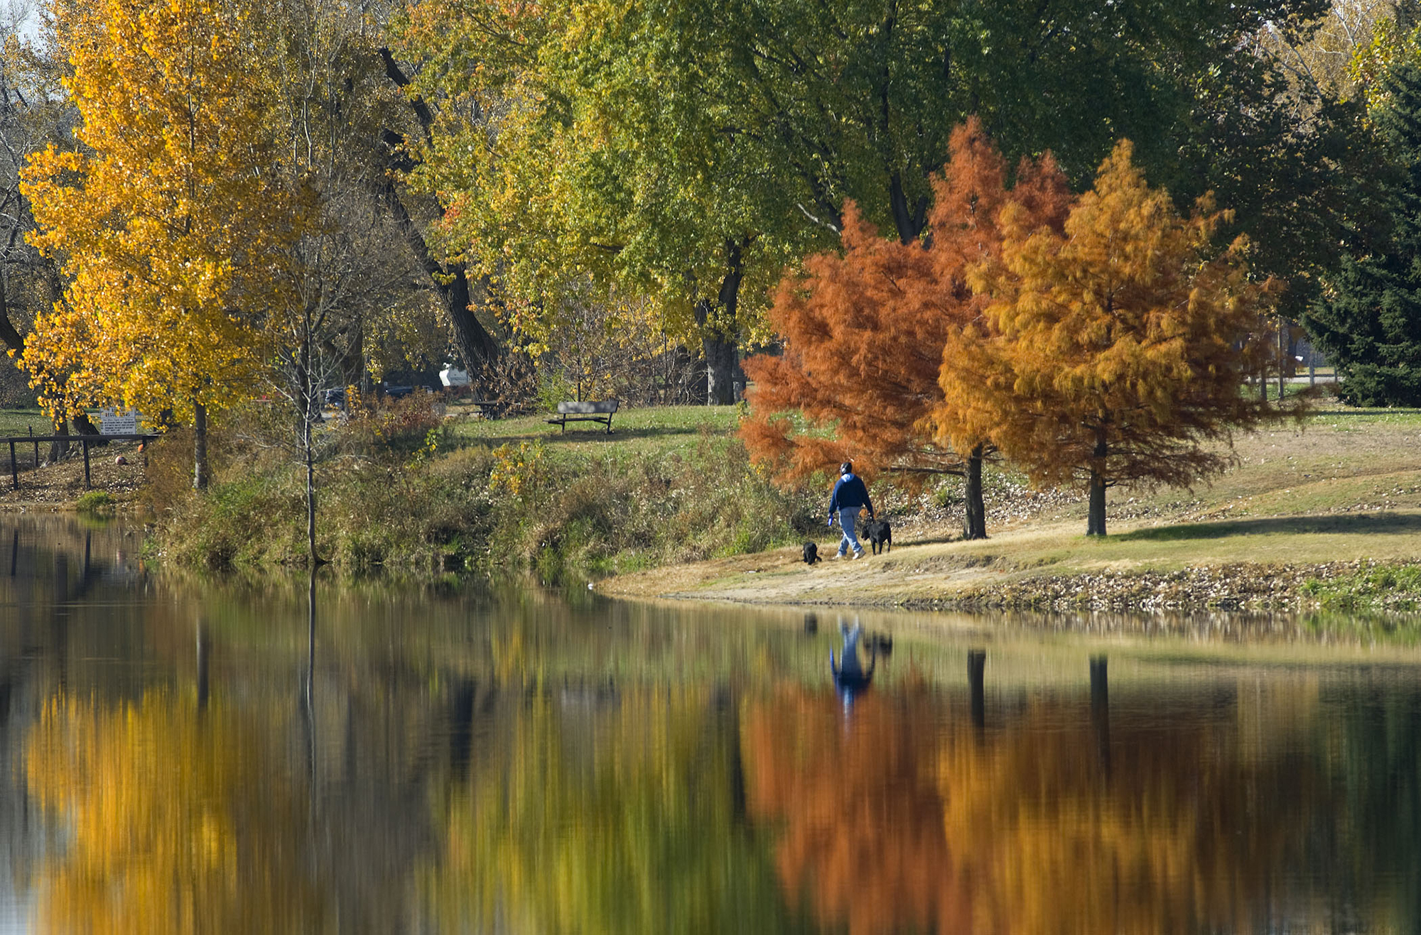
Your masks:
<instances>
[{"instance_id":1,"label":"rust-red tree reflection in the water, below the walker's reflection","mask_svg":"<svg viewBox=\"0 0 1421 935\"><path fill-rule=\"evenodd\" d=\"M780 827L791 898L851 934L971 931L965 868L944 836L932 695L837 698L783 689L745 718L752 816Z\"/></svg>"}]
</instances>

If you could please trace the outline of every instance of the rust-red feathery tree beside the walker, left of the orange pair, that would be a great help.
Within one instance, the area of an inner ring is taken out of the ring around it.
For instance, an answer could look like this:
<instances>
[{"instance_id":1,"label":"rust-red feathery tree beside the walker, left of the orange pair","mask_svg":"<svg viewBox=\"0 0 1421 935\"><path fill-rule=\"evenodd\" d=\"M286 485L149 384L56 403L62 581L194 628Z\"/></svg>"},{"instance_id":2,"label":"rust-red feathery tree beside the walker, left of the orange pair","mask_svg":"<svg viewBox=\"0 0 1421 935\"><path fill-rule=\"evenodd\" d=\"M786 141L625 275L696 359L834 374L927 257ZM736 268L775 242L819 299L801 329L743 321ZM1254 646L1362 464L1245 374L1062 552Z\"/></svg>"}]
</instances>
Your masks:
<instances>
[{"instance_id":1,"label":"rust-red feathery tree beside the walker, left of the orange pair","mask_svg":"<svg viewBox=\"0 0 1421 935\"><path fill-rule=\"evenodd\" d=\"M1000 249L998 217L1059 229L1069 206L1054 161L1023 161L1006 188L1006 162L973 118L952 134L951 158L934 179L928 234L888 240L853 203L843 253L821 253L789 276L770 313L784 354L746 361L755 381L742 438L752 456L797 480L853 459L855 469L966 479L969 539L986 537L982 458L990 432L935 438L928 416L942 404L938 374L949 334L980 330L983 301L968 270ZM800 414L796 423L790 414Z\"/></svg>"}]
</instances>

